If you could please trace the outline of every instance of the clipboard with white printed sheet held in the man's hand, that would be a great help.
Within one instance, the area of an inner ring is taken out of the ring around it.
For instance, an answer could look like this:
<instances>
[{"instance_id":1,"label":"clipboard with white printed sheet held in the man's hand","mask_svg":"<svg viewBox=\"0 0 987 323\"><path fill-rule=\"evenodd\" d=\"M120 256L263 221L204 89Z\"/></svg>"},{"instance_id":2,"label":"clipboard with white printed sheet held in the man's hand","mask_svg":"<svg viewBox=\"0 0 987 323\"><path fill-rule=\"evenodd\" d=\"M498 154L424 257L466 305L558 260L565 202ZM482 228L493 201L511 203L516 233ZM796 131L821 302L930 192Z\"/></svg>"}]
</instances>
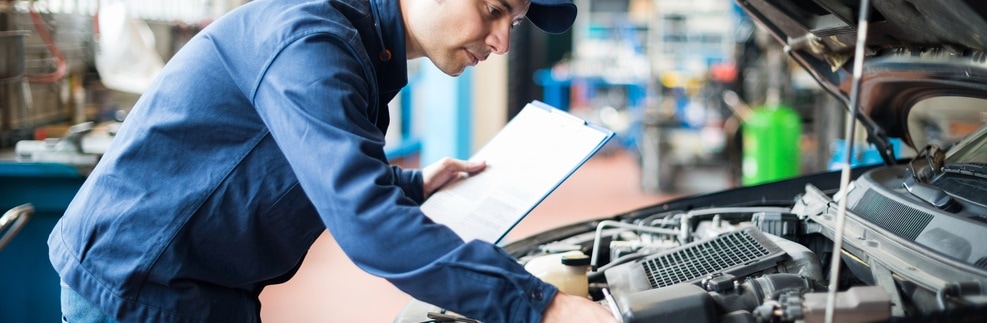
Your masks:
<instances>
[{"instance_id":1,"label":"clipboard with white printed sheet held in the man's hand","mask_svg":"<svg viewBox=\"0 0 987 323\"><path fill-rule=\"evenodd\" d=\"M470 157L486 161L486 169L447 184L421 210L464 241L500 243L613 136L611 130L532 101Z\"/></svg>"}]
</instances>

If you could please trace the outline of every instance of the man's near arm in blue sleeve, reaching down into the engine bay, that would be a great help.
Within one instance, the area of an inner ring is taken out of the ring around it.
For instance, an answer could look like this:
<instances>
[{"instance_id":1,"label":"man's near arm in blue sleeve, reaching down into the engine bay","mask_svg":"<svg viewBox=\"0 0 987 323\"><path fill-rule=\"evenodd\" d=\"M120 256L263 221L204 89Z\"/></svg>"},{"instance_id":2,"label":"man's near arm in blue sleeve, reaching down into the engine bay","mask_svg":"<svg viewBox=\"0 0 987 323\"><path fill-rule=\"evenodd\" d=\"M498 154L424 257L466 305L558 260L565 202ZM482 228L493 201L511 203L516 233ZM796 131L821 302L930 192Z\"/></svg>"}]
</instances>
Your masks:
<instances>
[{"instance_id":1,"label":"man's near arm in blue sleeve, reaching down into the engine bay","mask_svg":"<svg viewBox=\"0 0 987 323\"><path fill-rule=\"evenodd\" d=\"M396 185L367 115L369 64L350 47L359 41L337 37L286 45L253 96L333 238L362 270L424 302L487 322L541 321L555 287L497 246L464 244Z\"/></svg>"}]
</instances>

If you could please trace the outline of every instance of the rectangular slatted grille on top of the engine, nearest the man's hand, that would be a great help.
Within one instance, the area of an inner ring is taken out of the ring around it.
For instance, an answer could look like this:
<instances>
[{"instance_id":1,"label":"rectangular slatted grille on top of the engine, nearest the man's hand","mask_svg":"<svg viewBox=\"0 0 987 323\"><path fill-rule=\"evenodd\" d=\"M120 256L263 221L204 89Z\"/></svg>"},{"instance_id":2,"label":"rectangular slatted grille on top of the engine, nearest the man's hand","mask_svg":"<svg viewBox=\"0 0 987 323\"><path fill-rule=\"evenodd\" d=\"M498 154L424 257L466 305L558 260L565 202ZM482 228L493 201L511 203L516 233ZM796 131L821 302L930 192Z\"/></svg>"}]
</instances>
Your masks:
<instances>
[{"instance_id":1,"label":"rectangular slatted grille on top of the engine, nearest the man's hand","mask_svg":"<svg viewBox=\"0 0 987 323\"><path fill-rule=\"evenodd\" d=\"M776 249L772 248L772 249ZM689 248L644 261L651 287L692 282L711 273L752 264L773 252L751 236L749 230L725 233Z\"/></svg>"}]
</instances>

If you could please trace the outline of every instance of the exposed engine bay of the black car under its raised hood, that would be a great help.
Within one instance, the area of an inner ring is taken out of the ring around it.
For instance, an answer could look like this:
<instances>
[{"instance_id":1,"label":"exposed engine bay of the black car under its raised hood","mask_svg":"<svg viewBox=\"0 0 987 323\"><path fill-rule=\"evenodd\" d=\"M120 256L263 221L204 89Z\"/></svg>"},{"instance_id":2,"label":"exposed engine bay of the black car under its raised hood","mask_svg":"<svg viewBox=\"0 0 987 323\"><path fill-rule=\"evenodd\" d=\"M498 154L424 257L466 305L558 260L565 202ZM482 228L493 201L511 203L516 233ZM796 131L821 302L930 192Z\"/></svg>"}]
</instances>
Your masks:
<instances>
[{"instance_id":1,"label":"exposed engine bay of the black car under its raised hood","mask_svg":"<svg viewBox=\"0 0 987 323\"><path fill-rule=\"evenodd\" d=\"M512 254L589 255L588 294L612 294L624 322L823 322L846 196L834 321L985 317L987 214L963 199L945 210L924 202L905 188L908 172L868 170L847 194L806 183L787 205L639 210Z\"/></svg>"}]
</instances>

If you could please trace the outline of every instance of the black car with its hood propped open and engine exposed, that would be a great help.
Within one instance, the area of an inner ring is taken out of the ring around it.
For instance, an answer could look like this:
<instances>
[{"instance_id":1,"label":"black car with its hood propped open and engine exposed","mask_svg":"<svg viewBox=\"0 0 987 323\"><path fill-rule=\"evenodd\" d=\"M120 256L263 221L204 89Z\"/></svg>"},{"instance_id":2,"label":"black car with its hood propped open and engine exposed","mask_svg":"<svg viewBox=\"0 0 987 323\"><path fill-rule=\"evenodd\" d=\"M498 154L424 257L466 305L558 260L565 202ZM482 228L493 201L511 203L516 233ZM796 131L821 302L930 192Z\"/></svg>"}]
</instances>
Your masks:
<instances>
[{"instance_id":1,"label":"black car with its hood propped open and engine exposed","mask_svg":"<svg viewBox=\"0 0 987 323\"><path fill-rule=\"evenodd\" d=\"M987 4L737 4L843 102L831 113L855 112L883 163L682 197L502 247L526 266L585 255L587 297L624 322L987 320ZM913 156L896 156L892 139ZM395 321L440 312L412 301Z\"/></svg>"}]
</instances>

